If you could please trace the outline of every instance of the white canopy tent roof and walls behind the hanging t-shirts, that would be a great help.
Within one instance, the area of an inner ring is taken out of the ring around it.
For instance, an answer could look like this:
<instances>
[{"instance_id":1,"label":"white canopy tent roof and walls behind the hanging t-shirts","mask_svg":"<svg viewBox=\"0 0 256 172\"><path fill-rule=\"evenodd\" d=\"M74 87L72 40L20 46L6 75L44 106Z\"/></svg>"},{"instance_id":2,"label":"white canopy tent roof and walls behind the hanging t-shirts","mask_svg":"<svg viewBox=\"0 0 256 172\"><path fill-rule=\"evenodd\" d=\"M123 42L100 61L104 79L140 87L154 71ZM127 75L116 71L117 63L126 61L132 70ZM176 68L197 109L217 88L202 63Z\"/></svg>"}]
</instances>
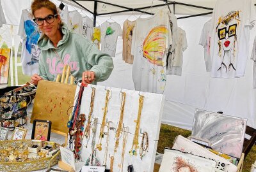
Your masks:
<instances>
[{"instance_id":1,"label":"white canopy tent roof and walls behind the hanging t-shirts","mask_svg":"<svg viewBox=\"0 0 256 172\"><path fill-rule=\"evenodd\" d=\"M85 13L91 18L93 18L93 14L95 15L94 4L97 3L96 16L99 24L108 19L109 15L112 15L112 18L122 25L124 20L132 13L134 15L141 15L142 13L138 10L155 13L164 6L167 8L166 2L159 0L52 1L57 5L61 2L64 3L68 6L68 10L74 10L74 7L76 9L79 8L80 10L77 11L81 12L82 15ZM216 0L177 0L175 3L168 1L170 3L170 10L175 12L175 14L182 15L211 13L215 2ZM1 0L1 3L6 22L12 25L19 25L21 11L29 8L31 0ZM256 3L256 0L254 0L254 3ZM73 7L69 8L69 6ZM82 6L90 12L86 12ZM151 6L154 7L151 8ZM195 6L209 9L196 8ZM116 11L121 11L121 13L116 13ZM177 15L177 17L184 16ZM228 115L248 118L248 125L256 127L256 91L252 89L253 62L248 59L246 73L242 78L228 80L211 78L211 75L205 72L204 49L198 45L198 41L202 27L209 18L209 16L204 16L178 20L179 27L186 31L188 48L183 55L182 76L167 76L166 88L164 90L166 101L164 103L162 122L191 129L195 108L201 108L209 111L223 111ZM256 35L256 28L251 33L249 54L252 52L252 42ZM116 57L113 57L113 61L115 68L110 78L98 84L123 89L134 89L131 76L132 65L125 64L122 61L122 38L118 38Z\"/></svg>"}]
</instances>

